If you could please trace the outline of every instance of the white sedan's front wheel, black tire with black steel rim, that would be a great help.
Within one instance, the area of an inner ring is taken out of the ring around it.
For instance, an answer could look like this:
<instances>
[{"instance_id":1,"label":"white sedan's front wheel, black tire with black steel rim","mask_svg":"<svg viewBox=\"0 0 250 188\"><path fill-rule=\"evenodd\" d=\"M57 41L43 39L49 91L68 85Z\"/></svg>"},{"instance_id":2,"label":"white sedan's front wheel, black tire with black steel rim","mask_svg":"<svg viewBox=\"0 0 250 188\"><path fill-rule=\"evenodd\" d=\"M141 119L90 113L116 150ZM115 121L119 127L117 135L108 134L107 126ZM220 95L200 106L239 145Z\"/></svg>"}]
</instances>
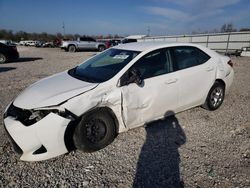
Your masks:
<instances>
[{"instance_id":1,"label":"white sedan's front wheel, black tire with black steel rim","mask_svg":"<svg viewBox=\"0 0 250 188\"><path fill-rule=\"evenodd\" d=\"M82 117L73 135L74 145L83 152L94 152L109 145L116 136L113 118L106 110L97 110Z\"/></svg>"}]
</instances>

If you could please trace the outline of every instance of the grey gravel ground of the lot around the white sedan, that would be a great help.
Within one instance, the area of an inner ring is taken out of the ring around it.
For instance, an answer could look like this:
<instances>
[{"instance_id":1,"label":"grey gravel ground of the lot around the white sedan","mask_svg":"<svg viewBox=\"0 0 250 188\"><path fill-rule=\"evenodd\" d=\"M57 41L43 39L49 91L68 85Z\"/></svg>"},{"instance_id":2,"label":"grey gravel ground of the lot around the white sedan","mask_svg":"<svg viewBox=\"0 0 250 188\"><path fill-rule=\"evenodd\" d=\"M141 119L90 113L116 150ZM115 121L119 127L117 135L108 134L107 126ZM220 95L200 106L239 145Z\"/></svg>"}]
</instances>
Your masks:
<instances>
[{"instance_id":1,"label":"grey gravel ground of the lot around the white sedan","mask_svg":"<svg viewBox=\"0 0 250 188\"><path fill-rule=\"evenodd\" d=\"M193 108L122 133L98 152L23 162L4 132L4 108L25 87L95 52L18 50L18 62L0 65L1 187L250 187L250 58L232 58L235 80L217 111Z\"/></svg>"}]
</instances>

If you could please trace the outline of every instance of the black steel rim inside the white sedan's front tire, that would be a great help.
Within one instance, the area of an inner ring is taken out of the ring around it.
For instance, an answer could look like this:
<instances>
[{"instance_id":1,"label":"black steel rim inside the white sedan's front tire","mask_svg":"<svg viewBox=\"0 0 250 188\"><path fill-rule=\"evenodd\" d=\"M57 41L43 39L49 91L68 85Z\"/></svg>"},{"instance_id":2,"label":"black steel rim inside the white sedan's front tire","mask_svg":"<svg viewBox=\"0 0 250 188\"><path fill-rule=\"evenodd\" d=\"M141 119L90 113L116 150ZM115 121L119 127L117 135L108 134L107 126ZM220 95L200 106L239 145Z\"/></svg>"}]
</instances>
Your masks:
<instances>
[{"instance_id":1,"label":"black steel rim inside the white sedan's front tire","mask_svg":"<svg viewBox=\"0 0 250 188\"><path fill-rule=\"evenodd\" d=\"M106 125L99 119L90 120L86 124L87 139L92 143L100 142L106 135Z\"/></svg>"}]
</instances>

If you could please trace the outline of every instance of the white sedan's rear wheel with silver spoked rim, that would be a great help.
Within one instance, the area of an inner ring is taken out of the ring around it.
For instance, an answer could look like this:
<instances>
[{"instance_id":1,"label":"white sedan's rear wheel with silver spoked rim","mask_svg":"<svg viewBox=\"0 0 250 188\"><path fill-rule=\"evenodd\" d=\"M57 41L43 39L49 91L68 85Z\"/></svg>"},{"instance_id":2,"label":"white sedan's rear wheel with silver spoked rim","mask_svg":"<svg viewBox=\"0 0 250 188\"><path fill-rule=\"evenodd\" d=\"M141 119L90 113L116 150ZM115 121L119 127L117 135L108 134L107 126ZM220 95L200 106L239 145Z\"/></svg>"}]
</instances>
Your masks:
<instances>
[{"instance_id":1,"label":"white sedan's rear wheel with silver spoked rim","mask_svg":"<svg viewBox=\"0 0 250 188\"><path fill-rule=\"evenodd\" d=\"M213 111L218 109L224 101L225 97L225 86L221 82L215 82L210 89L205 103L202 105L203 108Z\"/></svg>"}]
</instances>

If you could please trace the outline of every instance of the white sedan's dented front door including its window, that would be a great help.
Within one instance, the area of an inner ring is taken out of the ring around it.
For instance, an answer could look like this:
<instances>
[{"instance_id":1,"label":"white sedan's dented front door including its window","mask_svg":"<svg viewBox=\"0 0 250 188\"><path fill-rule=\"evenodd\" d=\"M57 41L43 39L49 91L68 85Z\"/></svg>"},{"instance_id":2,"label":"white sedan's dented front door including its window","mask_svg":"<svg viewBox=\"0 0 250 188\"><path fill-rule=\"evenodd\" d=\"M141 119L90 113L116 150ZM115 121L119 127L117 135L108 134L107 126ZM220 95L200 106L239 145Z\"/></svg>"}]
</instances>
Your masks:
<instances>
[{"instance_id":1,"label":"white sedan's dented front door including its window","mask_svg":"<svg viewBox=\"0 0 250 188\"><path fill-rule=\"evenodd\" d=\"M168 49L146 54L123 75L121 80L124 80L132 69L140 72L143 81L140 85L120 82L122 113L126 126L138 127L178 109L178 75L173 70Z\"/></svg>"}]
</instances>

